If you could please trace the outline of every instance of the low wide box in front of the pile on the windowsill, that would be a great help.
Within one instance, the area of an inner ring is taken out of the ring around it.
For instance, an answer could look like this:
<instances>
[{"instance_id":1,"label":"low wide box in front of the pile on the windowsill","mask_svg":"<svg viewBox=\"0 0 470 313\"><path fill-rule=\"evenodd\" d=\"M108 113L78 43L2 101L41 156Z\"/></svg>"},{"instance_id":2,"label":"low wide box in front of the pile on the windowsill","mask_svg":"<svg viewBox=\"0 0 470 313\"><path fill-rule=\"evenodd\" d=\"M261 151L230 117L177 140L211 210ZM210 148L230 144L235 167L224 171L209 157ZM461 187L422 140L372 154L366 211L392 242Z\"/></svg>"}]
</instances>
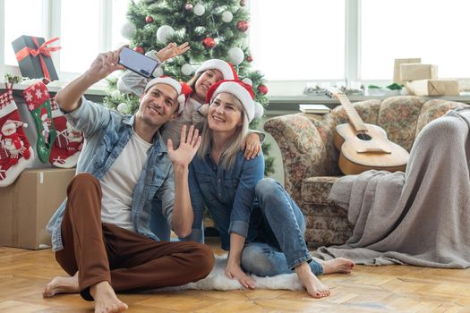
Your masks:
<instances>
[{"instance_id":1,"label":"low wide box in front of the pile on the windowsill","mask_svg":"<svg viewBox=\"0 0 470 313\"><path fill-rule=\"evenodd\" d=\"M406 89L415 96L458 96L458 80L413 80Z\"/></svg>"}]
</instances>

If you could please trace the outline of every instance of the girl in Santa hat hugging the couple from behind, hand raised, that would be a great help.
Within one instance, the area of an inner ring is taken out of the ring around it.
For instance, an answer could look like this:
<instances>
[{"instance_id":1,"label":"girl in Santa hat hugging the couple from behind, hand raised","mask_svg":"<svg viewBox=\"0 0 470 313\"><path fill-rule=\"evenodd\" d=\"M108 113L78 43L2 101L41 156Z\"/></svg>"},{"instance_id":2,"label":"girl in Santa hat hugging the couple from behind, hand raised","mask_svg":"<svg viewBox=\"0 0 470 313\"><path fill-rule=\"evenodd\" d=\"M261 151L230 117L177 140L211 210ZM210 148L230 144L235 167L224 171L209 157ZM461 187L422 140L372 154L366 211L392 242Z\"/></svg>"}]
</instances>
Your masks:
<instances>
[{"instance_id":1,"label":"girl in Santa hat hugging the couple from behind, hand raised","mask_svg":"<svg viewBox=\"0 0 470 313\"><path fill-rule=\"evenodd\" d=\"M188 50L189 44L187 42L180 46L170 43L158 52L152 50L145 55L156 59L161 65L168 59L182 55ZM193 91L186 101L182 114L174 121L168 122L162 131L160 131L163 140L167 142L168 139L171 139L177 148L179 146L181 129L184 125L186 125L187 129L194 125L201 131L202 124L206 119L205 115L207 114L208 106L205 105L205 100L210 86L219 80L237 79L238 76L230 63L218 59L210 59L201 63L192 79L187 83ZM134 72L126 71L117 81L117 88L123 93L132 92L140 97L148 82L149 79ZM244 156L246 158L253 158L259 155L261 153L262 140L264 140L263 133L258 131L249 133L246 136L246 140L240 145L245 150Z\"/></svg>"}]
</instances>

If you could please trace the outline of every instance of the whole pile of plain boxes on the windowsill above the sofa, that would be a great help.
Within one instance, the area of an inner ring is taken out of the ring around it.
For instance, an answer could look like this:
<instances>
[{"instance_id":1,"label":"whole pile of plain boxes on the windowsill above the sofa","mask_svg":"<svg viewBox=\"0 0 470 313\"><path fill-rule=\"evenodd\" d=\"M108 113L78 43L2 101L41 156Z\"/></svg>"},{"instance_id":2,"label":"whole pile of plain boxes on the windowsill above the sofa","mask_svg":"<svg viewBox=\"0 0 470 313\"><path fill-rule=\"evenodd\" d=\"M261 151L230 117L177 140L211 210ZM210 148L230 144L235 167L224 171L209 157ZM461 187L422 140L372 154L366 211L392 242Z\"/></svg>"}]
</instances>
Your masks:
<instances>
[{"instance_id":1,"label":"whole pile of plain boxes on the windowsill above the sofa","mask_svg":"<svg viewBox=\"0 0 470 313\"><path fill-rule=\"evenodd\" d=\"M396 59L393 81L414 96L458 96L458 80L438 78L438 66L421 63L421 58Z\"/></svg>"}]
</instances>

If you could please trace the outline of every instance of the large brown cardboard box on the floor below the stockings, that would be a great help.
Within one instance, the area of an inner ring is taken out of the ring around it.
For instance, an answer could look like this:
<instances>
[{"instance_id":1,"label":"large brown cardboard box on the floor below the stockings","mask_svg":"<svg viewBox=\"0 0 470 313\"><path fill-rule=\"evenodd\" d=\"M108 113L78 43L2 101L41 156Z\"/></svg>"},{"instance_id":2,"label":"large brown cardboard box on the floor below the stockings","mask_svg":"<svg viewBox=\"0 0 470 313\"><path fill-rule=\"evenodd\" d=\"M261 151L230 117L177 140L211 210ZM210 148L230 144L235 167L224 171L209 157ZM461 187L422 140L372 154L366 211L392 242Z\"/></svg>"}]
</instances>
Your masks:
<instances>
[{"instance_id":1,"label":"large brown cardboard box on the floor below the stockings","mask_svg":"<svg viewBox=\"0 0 470 313\"><path fill-rule=\"evenodd\" d=\"M51 245L47 222L66 198L75 169L35 168L0 188L0 246L44 249Z\"/></svg>"}]
</instances>

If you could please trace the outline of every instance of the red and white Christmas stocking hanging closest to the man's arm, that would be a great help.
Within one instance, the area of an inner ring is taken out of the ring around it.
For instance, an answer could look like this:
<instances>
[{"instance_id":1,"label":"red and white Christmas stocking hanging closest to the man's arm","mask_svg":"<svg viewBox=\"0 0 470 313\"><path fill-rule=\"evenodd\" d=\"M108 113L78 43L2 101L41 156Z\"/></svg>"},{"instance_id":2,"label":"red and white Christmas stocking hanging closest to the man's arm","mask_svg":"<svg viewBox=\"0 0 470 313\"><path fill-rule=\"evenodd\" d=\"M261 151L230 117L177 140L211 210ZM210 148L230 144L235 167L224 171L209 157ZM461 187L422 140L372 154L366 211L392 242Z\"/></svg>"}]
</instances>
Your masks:
<instances>
[{"instance_id":1,"label":"red and white Christmas stocking hanging closest to the man's arm","mask_svg":"<svg viewBox=\"0 0 470 313\"><path fill-rule=\"evenodd\" d=\"M77 165L83 147L83 135L67 122L53 97L50 98L50 104L57 137L52 145L49 162L57 167L71 168Z\"/></svg>"}]
</instances>

